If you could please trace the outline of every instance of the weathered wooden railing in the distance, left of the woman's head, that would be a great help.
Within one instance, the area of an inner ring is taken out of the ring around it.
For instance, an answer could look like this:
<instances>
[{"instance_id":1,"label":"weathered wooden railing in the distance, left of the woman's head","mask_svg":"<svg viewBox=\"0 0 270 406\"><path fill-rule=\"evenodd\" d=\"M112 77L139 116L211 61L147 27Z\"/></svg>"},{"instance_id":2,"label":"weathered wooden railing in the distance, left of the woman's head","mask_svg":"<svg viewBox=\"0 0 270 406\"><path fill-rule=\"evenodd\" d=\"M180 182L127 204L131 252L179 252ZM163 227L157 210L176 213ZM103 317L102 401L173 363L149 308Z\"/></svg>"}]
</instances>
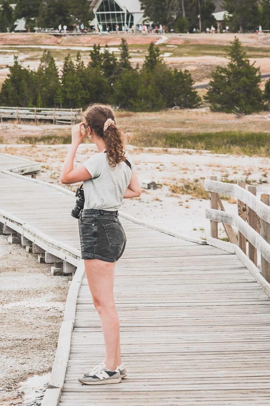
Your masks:
<instances>
[{"instance_id":1,"label":"weathered wooden railing in the distance, left of the woman's head","mask_svg":"<svg viewBox=\"0 0 270 406\"><path fill-rule=\"evenodd\" d=\"M0 119L49 120L53 124L77 124L83 115L82 108L38 108L38 107L2 107L0 106Z\"/></svg>"}]
</instances>

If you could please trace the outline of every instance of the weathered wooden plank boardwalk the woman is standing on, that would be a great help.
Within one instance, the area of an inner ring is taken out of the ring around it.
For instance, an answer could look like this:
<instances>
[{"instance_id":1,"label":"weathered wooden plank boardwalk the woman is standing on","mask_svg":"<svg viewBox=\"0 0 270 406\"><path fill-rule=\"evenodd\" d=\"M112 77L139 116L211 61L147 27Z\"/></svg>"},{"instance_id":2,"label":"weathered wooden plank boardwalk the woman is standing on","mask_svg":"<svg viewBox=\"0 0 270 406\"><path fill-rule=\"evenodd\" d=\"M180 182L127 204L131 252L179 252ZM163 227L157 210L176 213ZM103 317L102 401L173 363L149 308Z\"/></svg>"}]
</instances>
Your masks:
<instances>
[{"instance_id":1,"label":"weathered wooden plank boardwalk the woman is standing on","mask_svg":"<svg viewBox=\"0 0 270 406\"><path fill-rule=\"evenodd\" d=\"M233 253L176 238L128 216L120 218L128 242L115 268L128 376L120 384L80 384L83 371L104 358L104 343L83 276L77 220L70 216L74 196L4 171L23 161L7 155L0 160L0 222L24 227L28 238L32 229L36 244L47 241L48 251L80 264L44 404L270 404L270 298L255 278ZM55 371L60 364L66 372L63 385L59 368Z\"/></svg>"}]
</instances>

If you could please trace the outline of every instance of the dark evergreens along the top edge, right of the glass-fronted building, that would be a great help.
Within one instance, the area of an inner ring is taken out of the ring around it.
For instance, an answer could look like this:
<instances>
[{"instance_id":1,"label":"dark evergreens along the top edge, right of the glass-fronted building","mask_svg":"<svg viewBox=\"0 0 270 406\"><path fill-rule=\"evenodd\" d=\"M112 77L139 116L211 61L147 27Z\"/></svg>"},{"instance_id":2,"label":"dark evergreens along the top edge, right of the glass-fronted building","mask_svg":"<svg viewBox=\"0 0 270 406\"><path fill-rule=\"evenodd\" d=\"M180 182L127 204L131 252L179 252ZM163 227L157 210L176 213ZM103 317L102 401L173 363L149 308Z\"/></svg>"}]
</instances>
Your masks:
<instances>
[{"instance_id":1,"label":"dark evergreens along the top edge, right of the glass-fronted building","mask_svg":"<svg viewBox=\"0 0 270 406\"><path fill-rule=\"evenodd\" d=\"M144 17L166 25L176 32L192 32L193 28L205 31L212 24L217 27L212 13L215 3L211 0L142 0ZM227 12L222 22L231 32L254 31L261 24L270 29L270 0L223 0Z\"/></svg>"}]
</instances>

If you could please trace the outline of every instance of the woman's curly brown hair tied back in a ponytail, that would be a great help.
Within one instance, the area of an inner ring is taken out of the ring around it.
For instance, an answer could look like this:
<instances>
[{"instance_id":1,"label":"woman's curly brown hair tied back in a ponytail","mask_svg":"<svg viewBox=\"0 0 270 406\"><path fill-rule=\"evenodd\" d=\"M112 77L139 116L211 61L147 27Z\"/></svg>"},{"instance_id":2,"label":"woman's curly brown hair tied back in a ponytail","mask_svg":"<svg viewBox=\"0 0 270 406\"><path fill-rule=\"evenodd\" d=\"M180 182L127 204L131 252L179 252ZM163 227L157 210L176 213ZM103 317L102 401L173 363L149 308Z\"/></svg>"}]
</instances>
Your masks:
<instances>
[{"instance_id":1,"label":"woman's curly brown hair tied back in a ponytail","mask_svg":"<svg viewBox=\"0 0 270 406\"><path fill-rule=\"evenodd\" d=\"M104 104L91 104L84 112L87 125L96 136L102 138L106 145L108 163L112 168L124 161L124 136L116 123L108 126L104 131L104 123L107 119L115 122L115 115L110 106Z\"/></svg>"}]
</instances>

